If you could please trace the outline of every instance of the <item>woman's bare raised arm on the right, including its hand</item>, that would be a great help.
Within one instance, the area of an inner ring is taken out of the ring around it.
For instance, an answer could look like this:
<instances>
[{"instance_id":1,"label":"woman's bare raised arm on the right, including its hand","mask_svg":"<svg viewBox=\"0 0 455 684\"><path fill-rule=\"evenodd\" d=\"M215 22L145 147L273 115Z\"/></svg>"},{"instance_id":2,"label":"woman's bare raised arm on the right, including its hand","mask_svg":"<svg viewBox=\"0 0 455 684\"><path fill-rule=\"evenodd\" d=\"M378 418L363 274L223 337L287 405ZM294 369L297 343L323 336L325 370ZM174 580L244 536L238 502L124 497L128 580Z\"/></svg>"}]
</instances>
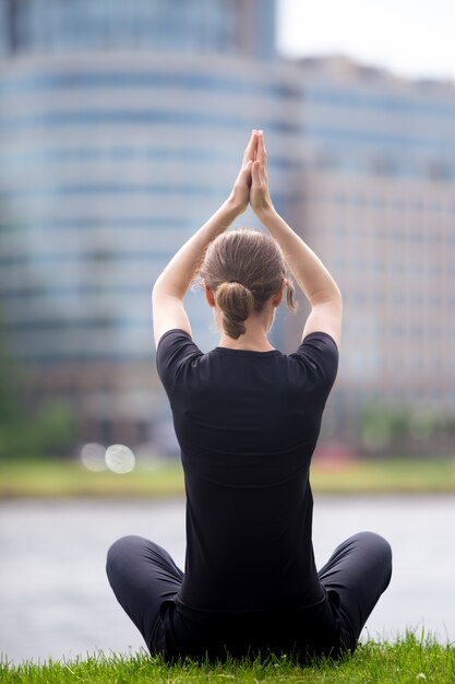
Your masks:
<instances>
[{"instance_id":1,"label":"woman's bare raised arm on the right, including its hand","mask_svg":"<svg viewBox=\"0 0 455 684\"><path fill-rule=\"evenodd\" d=\"M268 190L262 132L255 133L255 141L256 160L252 165L250 203L258 219L280 246L290 271L310 303L311 311L302 337L311 332L326 332L339 345L343 309L340 292L321 259L276 212Z\"/></svg>"}]
</instances>

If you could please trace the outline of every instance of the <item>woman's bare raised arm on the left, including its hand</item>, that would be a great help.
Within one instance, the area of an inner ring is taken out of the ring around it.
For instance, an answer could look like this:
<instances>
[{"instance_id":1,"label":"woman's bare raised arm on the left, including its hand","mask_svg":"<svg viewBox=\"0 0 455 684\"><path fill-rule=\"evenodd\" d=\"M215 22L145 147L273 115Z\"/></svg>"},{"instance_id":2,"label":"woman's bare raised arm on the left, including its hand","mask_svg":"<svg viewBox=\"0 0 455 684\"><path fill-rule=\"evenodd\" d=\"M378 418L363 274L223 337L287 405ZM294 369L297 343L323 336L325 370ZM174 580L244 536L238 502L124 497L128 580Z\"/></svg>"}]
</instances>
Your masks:
<instances>
[{"instance_id":1,"label":"woman's bare raised arm on the left, including its hand","mask_svg":"<svg viewBox=\"0 0 455 684\"><path fill-rule=\"evenodd\" d=\"M250 199L251 165L255 155L254 132L243 154L242 166L232 191L208 221L179 249L158 276L152 292L155 344L168 330L178 328L191 335L183 307L189 288L208 245L244 212Z\"/></svg>"}]
</instances>

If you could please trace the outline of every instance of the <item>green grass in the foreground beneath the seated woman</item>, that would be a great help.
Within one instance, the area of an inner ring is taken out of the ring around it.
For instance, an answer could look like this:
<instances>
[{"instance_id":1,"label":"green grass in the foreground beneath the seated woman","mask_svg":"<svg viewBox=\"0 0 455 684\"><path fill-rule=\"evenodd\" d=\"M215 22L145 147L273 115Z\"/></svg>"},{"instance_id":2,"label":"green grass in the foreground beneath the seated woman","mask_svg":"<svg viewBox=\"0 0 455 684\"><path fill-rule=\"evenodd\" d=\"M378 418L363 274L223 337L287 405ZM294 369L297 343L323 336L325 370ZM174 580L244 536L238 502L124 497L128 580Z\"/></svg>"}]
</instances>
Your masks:
<instances>
[{"instance_id":1,"label":"green grass in the foreground beneath the seated woman","mask_svg":"<svg viewBox=\"0 0 455 684\"><path fill-rule=\"evenodd\" d=\"M135 654L105 656L98 653L73 661L26 662L0 665L0 682L8 683L91 683L142 684L447 684L455 682L455 647L443 646L429 638L407 634L395 642L360 645L354 656L340 661L322 659L306 667L288 658L195 663L184 661L166 664L161 658L149 658L144 651Z\"/></svg>"}]
</instances>

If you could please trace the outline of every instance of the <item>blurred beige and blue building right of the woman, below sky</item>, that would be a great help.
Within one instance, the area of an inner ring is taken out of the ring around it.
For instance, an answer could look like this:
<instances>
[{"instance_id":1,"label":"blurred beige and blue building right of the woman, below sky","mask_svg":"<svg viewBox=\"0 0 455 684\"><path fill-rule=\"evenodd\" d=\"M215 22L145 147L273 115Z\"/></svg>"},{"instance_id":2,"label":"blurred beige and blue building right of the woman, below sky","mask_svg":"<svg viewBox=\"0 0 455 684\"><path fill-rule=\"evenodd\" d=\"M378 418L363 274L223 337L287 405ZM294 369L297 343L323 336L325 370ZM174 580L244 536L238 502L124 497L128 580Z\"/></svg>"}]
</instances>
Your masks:
<instances>
[{"instance_id":1,"label":"blurred beige and blue building right of the woman, below sky","mask_svg":"<svg viewBox=\"0 0 455 684\"><path fill-rule=\"evenodd\" d=\"M455 85L301 61L303 225L344 295L333 418L455 413Z\"/></svg>"}]
</instances>

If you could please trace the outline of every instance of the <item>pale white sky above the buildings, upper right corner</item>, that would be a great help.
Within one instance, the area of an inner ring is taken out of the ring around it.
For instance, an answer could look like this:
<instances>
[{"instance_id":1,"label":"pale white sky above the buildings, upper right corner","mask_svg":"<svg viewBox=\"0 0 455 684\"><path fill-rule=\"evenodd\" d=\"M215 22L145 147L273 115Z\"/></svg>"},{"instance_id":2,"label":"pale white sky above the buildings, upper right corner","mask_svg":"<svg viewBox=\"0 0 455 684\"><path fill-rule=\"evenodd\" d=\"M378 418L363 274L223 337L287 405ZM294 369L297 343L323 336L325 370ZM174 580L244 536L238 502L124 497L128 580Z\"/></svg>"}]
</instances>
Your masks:
<instances>
[{"instance_id":1,"label":"pale white sky above the buildings, upper right corner","mask_svg":"<svg viewBox=\"0 0 455 684\"><path fill-rule=\"evenodd\" d=\"M278 50L455 81L455 0L278 0Z\"/></svg>"}]
</instances>

